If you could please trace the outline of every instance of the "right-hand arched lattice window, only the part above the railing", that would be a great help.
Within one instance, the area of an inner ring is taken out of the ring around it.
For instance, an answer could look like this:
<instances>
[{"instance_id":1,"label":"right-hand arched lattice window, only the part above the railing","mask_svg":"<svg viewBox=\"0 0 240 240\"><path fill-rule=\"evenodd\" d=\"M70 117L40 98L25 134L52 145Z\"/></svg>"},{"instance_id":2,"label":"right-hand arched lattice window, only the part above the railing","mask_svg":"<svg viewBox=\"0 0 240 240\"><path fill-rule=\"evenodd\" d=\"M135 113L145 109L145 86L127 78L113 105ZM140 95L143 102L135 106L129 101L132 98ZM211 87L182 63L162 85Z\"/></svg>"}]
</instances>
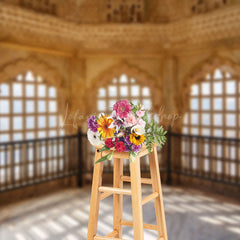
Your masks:
<instances>
[{"instance_id":1,"label":"right-hand arched lattice window, only the part above the railing","mask_svg":"<svg viewBox=\"0 0 240 240\"><path fill-rule=\"evenodd\" d=\"M183 132L215 137L240 137L240 81L221 69L192 85Z\"/></svg>"}]
</instances>

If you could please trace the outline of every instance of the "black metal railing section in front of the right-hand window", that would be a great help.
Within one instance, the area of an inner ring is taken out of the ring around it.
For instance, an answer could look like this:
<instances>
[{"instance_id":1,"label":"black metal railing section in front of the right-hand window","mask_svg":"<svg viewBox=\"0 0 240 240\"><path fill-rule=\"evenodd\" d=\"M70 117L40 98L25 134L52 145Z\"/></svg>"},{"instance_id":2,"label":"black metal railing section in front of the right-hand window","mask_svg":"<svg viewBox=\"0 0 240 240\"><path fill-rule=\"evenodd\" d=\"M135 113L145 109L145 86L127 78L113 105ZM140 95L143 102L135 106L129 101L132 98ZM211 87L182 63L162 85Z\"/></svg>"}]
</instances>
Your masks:
<instances>
[{"instance_id":1,"label":"black metal railing section in front of the right-hand window","mask_svg":"<svg viewBox=\"0 0 240 240\"><path fill-rule=\"evenodd\" d=\"M240 185L240 139L170 133L168 171Z\"/></svg>"}]
</instances>

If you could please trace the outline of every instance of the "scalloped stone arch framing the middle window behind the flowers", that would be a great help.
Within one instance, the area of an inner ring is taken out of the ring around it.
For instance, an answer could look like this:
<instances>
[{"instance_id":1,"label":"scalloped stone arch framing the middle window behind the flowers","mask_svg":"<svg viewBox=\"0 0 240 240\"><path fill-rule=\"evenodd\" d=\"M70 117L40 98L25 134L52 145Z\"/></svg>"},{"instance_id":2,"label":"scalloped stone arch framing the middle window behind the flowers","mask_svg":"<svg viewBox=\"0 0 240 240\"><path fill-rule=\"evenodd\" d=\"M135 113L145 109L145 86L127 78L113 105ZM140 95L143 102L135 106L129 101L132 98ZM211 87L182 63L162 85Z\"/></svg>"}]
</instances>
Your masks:
<instances>
[{"instance_id":1,"label":"scalloped stone arch framing the middle window behind the flowers","mask_svg":"<svg viewBox=\"0 0 240 240\"><path fill-rule=\"evenodd\" d=\"M126 74L129 77L135 78L138 84L141 86L148 86L152 93L153 111L158 111L162 101L162 94L160 91L161 88L157 85L157 80L145 70L134 65L130 65L126 62L121 62L120 64L104 70L92 81L88 90L88 92L91 93L89 94L89 103L91 103L90 109L96 110L94 104L95 102L92 99L96 98L98 89L101 86L110 84L113 78L119 77L121 74Z\"/></svg>"}]
</instances>

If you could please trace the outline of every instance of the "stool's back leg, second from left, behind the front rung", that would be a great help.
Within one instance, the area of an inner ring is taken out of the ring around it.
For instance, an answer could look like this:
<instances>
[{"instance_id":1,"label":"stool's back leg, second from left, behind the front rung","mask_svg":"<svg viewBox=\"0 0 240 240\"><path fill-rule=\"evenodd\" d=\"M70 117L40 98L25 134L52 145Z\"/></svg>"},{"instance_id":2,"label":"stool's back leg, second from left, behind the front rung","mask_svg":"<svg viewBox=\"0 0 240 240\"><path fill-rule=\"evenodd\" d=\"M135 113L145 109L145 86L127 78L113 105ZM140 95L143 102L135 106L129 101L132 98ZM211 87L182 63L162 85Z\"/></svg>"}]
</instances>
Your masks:
<instances>
[{"instance_id":1,"label":"stool's back leg, second from left, behind the front rung","mask_svg":"<svg viewBox=\"0 0 240 240\"><path fill-rule=\"evenodd\" d=\"M123 188L123 181L121 181L121 176L123 175L123 160L115 158L113 167L113 187ZM123 195L113 194L113 230L117 232L117 238L122 238L122 211Z\"/></svg>"}]
</instances>

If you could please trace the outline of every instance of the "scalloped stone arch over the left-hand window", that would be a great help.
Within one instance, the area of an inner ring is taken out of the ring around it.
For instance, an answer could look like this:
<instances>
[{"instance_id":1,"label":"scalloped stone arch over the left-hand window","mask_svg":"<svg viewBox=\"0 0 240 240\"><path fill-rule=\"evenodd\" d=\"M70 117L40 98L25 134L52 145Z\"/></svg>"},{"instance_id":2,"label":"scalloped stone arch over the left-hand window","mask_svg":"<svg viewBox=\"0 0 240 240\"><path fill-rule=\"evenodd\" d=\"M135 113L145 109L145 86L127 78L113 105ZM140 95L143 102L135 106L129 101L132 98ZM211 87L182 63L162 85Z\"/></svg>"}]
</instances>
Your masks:
<instances>
[{"instance_id":1,"label":"scalloped stone arch over the left-hand window","mask_svg":"<svg viewBox=\"0 0 240 240\"><path fill-rule=\"evenodd\" d=\"M59 112L63 114L67 99L64 93L64 81L55 68L42 60L28 57L3 65L0 68L0 83L13 81L17 75L27 71L40 75L43 78L43 83L56 87L58 96L61 96L58 98Z\"/></svg>"}]
</instances>

